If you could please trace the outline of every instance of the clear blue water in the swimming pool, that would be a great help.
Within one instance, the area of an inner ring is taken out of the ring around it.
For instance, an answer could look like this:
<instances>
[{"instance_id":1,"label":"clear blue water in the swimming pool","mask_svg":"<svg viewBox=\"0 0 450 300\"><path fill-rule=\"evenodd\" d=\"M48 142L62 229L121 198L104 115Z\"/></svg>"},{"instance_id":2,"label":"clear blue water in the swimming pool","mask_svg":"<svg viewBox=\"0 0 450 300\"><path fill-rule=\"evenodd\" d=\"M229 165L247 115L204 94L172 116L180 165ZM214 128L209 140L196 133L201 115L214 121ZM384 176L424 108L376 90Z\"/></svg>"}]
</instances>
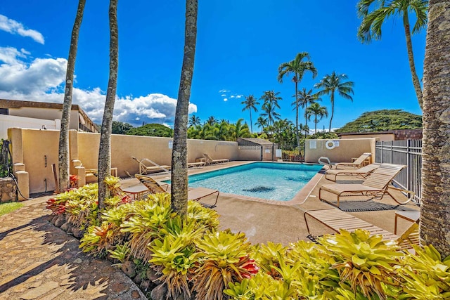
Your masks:
<instances>
[{"instance_id":1,"label":"clear blue water in the swimming pool","mask_svg":"<svg viewBox=\"0 0 450 300\"><path fill-rule=\"evenodd\" d=\"M291 200L322 168L321 164L253 162L189 176L190 187L268 200Z\"/></svg>"}]
</instances>

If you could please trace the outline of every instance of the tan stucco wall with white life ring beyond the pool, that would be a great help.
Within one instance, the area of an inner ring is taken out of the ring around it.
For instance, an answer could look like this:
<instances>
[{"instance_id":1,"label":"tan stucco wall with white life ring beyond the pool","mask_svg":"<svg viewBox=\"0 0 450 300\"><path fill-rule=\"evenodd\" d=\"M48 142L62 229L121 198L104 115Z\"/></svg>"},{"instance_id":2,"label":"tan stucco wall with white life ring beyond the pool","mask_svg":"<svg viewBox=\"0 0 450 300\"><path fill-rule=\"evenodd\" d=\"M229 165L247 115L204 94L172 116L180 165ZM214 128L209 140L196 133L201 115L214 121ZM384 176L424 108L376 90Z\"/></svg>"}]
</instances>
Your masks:
<instances>
[{"instance_id":1,"label":"tan stucco wall with white life ring beyond the pool","mask_svg":"<svg viewBox=\"0 0 450 300\"><path fill-rule=\"evenodd\" d=\"M326 141L307 140L305 162L316 163L322 156L328 157L331 162L350 162L352 157L359 157L364 152L371 152L372 161L375 161L375 138L336 139L333 141L339 142L339 146L333 149L326 148Z\"/></svg>"}]
</instances>

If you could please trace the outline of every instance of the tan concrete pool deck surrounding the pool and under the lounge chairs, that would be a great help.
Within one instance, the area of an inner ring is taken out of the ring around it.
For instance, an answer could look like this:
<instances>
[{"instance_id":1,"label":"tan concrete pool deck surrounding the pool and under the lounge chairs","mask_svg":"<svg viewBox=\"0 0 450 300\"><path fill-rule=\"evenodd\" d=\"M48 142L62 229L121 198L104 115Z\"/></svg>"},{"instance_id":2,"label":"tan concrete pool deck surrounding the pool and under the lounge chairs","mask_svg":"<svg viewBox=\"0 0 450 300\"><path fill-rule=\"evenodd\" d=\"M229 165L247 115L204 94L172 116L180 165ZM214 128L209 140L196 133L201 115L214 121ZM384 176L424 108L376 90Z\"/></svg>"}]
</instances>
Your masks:
<instances>
[{"instance_id":1,"label":"tan concrete pool deck surrounding the pool and under the lounge chairs","mask_svg":"<svg viewBox=\"0 0 450 300\"><path fill-rule=\"evenodd\" d=\"M250 162L229 162L227 164L215 164L203 169L189 169L189 174L198 174L205 171L213 171L228 167L234 167ZM220 215L221 229L230 228L233 232L243 232L252 243L280 242L288 245L297 240L308 240L307 228L304 222L304 211L308 209L330 209L330 204L319 200L319 188L323 184L334 183L323 176L324 170L316 174L309 183L297 193L293 200L276 201L264 200L255 197L243 195L233 195L220 193L217 207L215 208ZM169 179L169 175L152 176L157 181ZM338 183L361 182L358 179L342 176ZM136 185L138 183L134 178L122 181L125 185ZM226 183L224 183L226 184ZM406 200L406 196L398 191L392 193L399 199ZM204 198L202 202L207 202ZM213 200L213 197L211 198ZM350 200L352 201L352 200ZM377 201L380 204L397 206L390 197L383 197L383 201ZM397 207L397 210L418 210L418 206L412 202ZM378 210L378 211L355 211L349 212L359 219L383 228L391 233L394 232L394 217L396 209ZM399 221L399 233L411 223ZM322 235L323 233L333 233L319 222L309 222L311 233Z\"/></svg>"}]
</instances>

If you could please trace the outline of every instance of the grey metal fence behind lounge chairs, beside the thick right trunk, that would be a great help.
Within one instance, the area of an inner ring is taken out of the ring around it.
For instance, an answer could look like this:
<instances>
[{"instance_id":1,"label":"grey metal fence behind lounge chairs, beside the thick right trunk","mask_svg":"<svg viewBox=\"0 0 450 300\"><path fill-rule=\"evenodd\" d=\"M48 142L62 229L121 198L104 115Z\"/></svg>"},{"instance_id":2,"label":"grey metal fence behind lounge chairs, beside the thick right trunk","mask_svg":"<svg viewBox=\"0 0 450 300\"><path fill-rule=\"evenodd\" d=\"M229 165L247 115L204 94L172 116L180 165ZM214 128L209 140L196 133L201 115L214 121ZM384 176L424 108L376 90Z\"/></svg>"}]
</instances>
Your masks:
<instances>
[{"instance_id":1,"label":"grey metal fence behind lounge chairs, beside the thick right trunk","mask_svg":"<svg viewBox=\"0 0 450 300\"><path fill-rule=\"evenodd\" d=\"M375 145L375 162L404 164L406 169L395 177L394 183L416 193L413 201L420 204L422 193L422 140L382 141Z\"/></svg>"}]
</instances>

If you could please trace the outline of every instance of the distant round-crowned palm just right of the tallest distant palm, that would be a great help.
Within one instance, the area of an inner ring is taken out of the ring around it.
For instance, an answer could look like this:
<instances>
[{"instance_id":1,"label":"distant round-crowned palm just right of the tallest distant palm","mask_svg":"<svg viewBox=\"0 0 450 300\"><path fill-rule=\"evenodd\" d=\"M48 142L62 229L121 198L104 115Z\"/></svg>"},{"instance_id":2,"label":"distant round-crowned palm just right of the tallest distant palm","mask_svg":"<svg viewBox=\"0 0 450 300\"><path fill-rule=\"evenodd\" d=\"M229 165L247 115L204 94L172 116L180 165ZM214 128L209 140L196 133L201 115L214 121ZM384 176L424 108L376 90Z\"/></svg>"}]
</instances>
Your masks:
<instances>
[{"instance_id":1,"label":"distant round-crowned palm just right of the tallest distant palm","mask_svg":"<svg viewBox=\"0 0 450 300\"><path fill-rule=\"evenodd\" d=\"M326 74L318 84L314 85L316 89L322 89L317 92L317 96L330 95L331 116L328 132L331 132L331 122L333 121L333 115L335 113L335 91L338 91L339 96L342 98L353 101L352 96L349 94L353 94L354 82L344 81L347 78L346 74L336 74L336 72L333 71L331 74Z\"/></svg>"}]
</instances>

